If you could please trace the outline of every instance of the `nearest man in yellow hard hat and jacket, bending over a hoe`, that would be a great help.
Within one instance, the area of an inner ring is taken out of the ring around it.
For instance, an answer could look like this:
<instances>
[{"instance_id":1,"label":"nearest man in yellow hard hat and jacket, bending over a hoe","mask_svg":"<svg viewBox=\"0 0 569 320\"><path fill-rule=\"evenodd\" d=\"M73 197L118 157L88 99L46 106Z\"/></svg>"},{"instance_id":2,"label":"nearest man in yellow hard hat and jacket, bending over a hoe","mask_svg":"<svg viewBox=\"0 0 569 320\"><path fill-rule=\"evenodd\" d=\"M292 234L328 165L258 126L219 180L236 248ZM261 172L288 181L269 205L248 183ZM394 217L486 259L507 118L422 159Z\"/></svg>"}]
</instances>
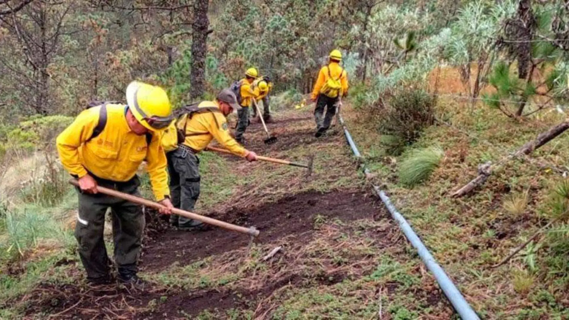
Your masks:
<instances>
[{"instance_id":1,"label":"nearest man in yellow hard hat and jacket, bending over a hoe","mask_svg":"<svg viewBox=\"0 0 569 320\"><path fill-rule=\"evenodd\" d=\"M166 156L160 144L162 130L172 121L166 92L153 85L133 82L126 89L128 105L104 104L84 110L57 137L61 163L79 179L79 212L75 237L87 280L110 284L110 260L105 249L105 213L113 221L114 261L118 279L141 286L137 261L145 225L138 204L97 193L97 186L139 195L136 171L146 159L152 191L170 214Z\"/></svg>"}]
</instances>

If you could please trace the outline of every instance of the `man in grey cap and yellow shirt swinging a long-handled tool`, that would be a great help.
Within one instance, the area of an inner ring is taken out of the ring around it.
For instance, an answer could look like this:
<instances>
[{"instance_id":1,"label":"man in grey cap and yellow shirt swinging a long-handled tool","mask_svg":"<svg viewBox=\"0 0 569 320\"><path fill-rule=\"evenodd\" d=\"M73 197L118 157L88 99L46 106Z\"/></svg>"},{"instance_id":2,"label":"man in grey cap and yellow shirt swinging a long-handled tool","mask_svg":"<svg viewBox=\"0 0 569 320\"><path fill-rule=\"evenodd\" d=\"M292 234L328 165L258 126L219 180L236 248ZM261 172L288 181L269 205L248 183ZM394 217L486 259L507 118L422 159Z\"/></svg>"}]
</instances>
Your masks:
<instances>
[{"instance_id":1,"label":"man in grey cap and yellow shirt swinging a long-handled tool","mask_svg":"<svg viewBox=\"0 0 569 320\"><path fill-rule=\"evenodd\" d=\"M183 140L178 140L178 137L170 134L164 136L162 142L164 146L174 145L175 143L172 143L174 139L180 142L177 149L167 153L170 190L176 208L193 211L200 196L200 160L197 154L205 149L213 138L233 154L244 157L247 161L257 160L257 154L244 149L228 131L225 116L233 110L239 112L241 109L234 93L230 89L223 89L217 95L216 101L203 101L199 105L183 108L182 116L176 124L176 129L181 133L179 136L183 137ZM185 231L207 229L201 221L177 215L170 216L170 223Z\"/></svg>"}]
</instances>

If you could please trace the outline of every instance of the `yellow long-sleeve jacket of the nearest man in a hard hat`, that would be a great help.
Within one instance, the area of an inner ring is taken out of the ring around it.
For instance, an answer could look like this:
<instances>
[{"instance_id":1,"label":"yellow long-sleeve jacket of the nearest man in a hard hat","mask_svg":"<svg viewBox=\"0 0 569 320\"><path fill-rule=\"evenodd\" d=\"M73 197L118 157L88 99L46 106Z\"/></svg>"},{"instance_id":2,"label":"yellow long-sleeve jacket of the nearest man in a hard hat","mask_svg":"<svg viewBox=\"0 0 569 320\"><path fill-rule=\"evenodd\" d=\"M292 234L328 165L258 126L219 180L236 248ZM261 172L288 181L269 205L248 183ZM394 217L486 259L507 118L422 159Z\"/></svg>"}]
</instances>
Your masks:
<instances>
[{"instance_id":1,"label":"yellow long-sleeve jacket of the nearest man in a hard hat","mask_svg":"<svg viewBox=\"0 0 569 320\"><path fill-rule=\"evenodd\" d=\"M147 145L146 136L138 136L127 124L125 106L108 104L105 128L91 139L100 109L97 106L84 110L57 137L57 151L63 167L79 178L90 173L101 179L125 182L134 177L146 159L156 200L170 195L160 134L153 133L150 145Z\"/></svg>"}]
</instances>

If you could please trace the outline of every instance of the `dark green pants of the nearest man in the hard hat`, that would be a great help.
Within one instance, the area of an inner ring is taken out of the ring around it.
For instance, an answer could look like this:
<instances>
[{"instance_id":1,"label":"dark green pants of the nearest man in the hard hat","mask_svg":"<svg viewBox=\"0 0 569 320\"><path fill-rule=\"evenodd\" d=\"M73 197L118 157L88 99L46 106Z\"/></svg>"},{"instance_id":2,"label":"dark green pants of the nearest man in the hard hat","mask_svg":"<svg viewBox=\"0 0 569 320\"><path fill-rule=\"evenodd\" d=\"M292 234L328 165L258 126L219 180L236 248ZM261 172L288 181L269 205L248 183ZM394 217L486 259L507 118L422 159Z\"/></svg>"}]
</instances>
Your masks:
<instances>
[{"instance_id":1,"label":"dark green pants of the nearest man in the hard hat","mask_svg":"<svg viewBox=\"0 0 569 320\"><path fill-rule=\"evenodd\" d=\"M139 195L138 177L127 182L97 179L99 186L113 188L131 195ZM78 188L79 190L79 188ZM137 272L141 251L141 238L145 220L142 206L104 194L79 192L79 213L75 237L79 243L79 256L88 280L109 277L110 260L105 248L103 231L105 213L111 209L113 221L114 261L119 276Z\"/></svg>"}]
</instances>

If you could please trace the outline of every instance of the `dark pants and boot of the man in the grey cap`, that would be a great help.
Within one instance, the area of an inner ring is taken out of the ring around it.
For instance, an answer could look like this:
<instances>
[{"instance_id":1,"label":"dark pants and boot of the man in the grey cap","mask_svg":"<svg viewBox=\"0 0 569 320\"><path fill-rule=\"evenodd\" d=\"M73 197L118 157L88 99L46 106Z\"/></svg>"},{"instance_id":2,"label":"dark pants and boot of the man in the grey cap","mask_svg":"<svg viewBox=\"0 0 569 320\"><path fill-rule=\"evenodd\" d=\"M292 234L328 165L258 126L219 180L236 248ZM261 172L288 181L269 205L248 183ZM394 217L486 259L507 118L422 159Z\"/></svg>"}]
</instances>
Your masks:
<instances>
[{"instance_id":1,"label":"dark pants and boot of the man in the grey cap","mask_svg":"<svg viewBox=\"0 0 569 320\"><path fill-rule=\"evenodd\" d=\"M193 151L179 147L166 154L170 174L170 196L174 207L192 211L200 196L200 159ZM201 221L172 214L170 223L180 228L196 227Z\"/></svg>"}]
</instances>

